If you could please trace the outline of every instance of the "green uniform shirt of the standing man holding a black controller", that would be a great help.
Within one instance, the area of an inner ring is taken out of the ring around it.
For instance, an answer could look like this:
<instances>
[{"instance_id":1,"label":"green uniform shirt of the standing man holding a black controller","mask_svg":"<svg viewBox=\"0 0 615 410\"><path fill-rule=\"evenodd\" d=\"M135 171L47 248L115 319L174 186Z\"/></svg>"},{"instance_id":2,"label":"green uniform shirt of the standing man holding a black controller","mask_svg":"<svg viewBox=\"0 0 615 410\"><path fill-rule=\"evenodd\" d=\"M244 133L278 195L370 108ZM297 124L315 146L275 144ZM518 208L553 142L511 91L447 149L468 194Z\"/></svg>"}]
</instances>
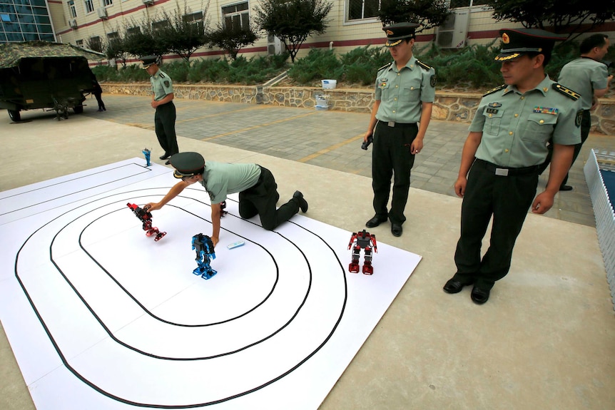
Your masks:
<instances>
[{"instance_id":1,"label":"green uniform shirt of the standing man holding a black controller","mask_svg":"<svg viewBox=\"0 0 615 410\"><path fill-rule=\"evenodd\" d=\"M378 71L376 77L376 100L380 107L378 121L418 123L421 119L421 103L433 103L436 95L435 71L426 70L417 64L415 56L397 70L395 62Z\"/></svg>"}]
</instances>

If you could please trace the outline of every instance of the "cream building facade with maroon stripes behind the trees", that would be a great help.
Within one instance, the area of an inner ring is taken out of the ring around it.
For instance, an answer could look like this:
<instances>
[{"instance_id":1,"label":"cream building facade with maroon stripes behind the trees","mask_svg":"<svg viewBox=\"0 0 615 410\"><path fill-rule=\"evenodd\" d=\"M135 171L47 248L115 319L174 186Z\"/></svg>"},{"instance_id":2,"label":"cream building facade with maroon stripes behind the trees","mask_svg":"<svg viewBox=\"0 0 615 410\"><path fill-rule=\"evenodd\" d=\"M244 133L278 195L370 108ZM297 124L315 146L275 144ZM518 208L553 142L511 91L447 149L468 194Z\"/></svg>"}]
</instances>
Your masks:
<instances>
[{"instance_id":1,"label":"cream building facade with maroon stripes behind the trees","mask_svg":"<svg viewBox=\"0 0 615 410\"><path fill-rule=\"evenodd\" d=\"M45 1L0 0L0 4L18 2ZM494 21L492 10L483 3L484 0L450 0L452 16L439 28L420 32L417 35L417 46L430 41L435 41L443 48L489 43L498 36L502 26L521 26ZM166 12L173 15L176 10L184 13L185 21L208 24L210 28L220 22L245 26L253 20L253 9L260 4L260 0L47 0L46 4L56 41L103 51L109 40L129 31L141 30L143 24L151 24L153 27L166 24L163 14ZM377 19L380 0L332 0L332 4L327 16L327 30L322 35L308 37L298 57L305 55L309 48L334 48L337 53L346 53L357 46L380 46L385 43L382 24ZM601 29L601 32L612 37L615 34L615 22L611 21ZM282 50L283 45L279 39L263 34L252 46L240 52L250 58L254 55L280 53ZM201 48L193 53L196 58L222 55L223 51L210 48ZM179 56L165 56L166 61L176 58Z\"/></svg>"}]
</instances>

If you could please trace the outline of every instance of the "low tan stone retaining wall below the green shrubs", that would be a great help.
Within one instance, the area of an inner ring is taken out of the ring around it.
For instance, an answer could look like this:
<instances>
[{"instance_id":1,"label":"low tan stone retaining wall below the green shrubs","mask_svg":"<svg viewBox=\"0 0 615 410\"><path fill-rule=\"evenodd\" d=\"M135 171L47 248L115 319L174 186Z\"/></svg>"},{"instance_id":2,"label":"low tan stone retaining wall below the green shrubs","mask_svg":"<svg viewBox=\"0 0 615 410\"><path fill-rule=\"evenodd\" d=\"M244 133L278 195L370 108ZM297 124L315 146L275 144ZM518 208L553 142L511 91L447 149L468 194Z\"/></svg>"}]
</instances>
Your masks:
<instances>
[{"instance_id":1,"label":"low tan stone retaining wall below the green shrubs","mask_svg":"<svg viewBox=\"0 0 615 410\"><path fill-rule=\"evenodd\" d=\"M150 96L148 83L103 83L103 91L110 94ZM174 84L176 98L221 101L226 103L270 104L273 106L314 108L316 96L326 101L327 109L369 113L374 93L364 88L317 87L263 87L263 86L213 86L200 84ZM442 121L469 123L480 101L478 93L437 91L432 118ZM615 135L615 98L601 98L599 106L591 112L592 131Z\"/></svg>"}]
</instances>

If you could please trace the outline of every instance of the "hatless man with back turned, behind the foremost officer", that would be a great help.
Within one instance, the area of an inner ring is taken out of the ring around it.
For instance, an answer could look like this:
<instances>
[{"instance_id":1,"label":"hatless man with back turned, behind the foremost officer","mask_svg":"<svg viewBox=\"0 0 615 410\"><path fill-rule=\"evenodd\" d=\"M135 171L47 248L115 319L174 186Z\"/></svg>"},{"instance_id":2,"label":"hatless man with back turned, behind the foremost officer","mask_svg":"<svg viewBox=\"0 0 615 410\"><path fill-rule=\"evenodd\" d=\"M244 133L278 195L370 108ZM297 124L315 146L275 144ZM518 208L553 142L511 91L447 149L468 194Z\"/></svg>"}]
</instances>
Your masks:
<instances>
[{"instance_id":1,"label":"hatless man with back turned, behind the foremost officer","mask_svg":"<svg viewBox=\"0 0 615 410\"><path fill-rule=\"evenodd\" d=\"M606 34L593 34L583 41L579 46L581 57L570 61L559 72L558 82L567 88L571 88L581 94L581 109L583 110L583 118L581 118L581 143L574 147L574 155L572 163L579 156L583 143L589 137L589 128L591 128L591 114L598 103L598 98L604 97L606 91L609 91L609 86L613 80L613 76L609 76L606 64L602 63L602 58L609 51L609 36ZM547 165L551 162L553 145L549 145L549 155L547 160L541 165L540 173L542 173ZM568 174L561 182L559 190L572 190L568 182Z\"/></svg>"}]
</instances>

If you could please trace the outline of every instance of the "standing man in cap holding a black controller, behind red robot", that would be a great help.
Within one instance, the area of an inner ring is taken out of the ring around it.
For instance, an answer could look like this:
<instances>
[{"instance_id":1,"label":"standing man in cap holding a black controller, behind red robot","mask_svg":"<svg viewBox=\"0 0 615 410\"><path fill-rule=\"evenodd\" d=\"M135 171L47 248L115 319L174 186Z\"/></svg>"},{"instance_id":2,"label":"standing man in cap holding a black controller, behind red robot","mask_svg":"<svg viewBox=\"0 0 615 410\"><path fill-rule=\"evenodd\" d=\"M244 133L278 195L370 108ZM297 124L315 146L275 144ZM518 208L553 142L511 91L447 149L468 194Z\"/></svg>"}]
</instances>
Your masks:
<instances>
[{"instance_id":1,"label":"standing man in cap holding a black controller, behind red robot","mask_svg":"<svg viewBox=\"0 0 615 410\"><path fill-rule=\"evenodd\" d=\"M363 138L373 135L372 188L375 215L365 226L376 227L387 219L391 232L402 235L404 210L410 190L410 171L432 116L435 71L412 55L415 23L392 24L383 28L393 62L380 68L375 83L375 103ZM418 124L417 124L418 123ZM387 211L393 180L391 209Z\"/></svg>"}]
</instances>

